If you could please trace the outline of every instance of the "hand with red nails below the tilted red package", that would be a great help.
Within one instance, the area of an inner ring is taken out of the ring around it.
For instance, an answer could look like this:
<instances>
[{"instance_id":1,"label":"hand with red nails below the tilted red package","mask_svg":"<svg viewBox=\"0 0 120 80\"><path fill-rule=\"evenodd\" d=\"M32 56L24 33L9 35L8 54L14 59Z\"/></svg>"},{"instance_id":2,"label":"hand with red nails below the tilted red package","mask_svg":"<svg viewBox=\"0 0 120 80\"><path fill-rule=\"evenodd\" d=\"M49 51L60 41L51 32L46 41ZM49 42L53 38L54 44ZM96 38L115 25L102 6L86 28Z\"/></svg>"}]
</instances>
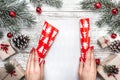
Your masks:
<instances>
[{"instance_id":1,"label":"hand with red nails below the tilted red package","mask_svg":"<svg viewBox=\"0 0 120 80\"><path fill-rule=\"evenodd\" d=\"M44 63L45 63L45 60L39 63L38 54L35 48L33 48L30 51L30 56L27 63L26 79L27 80L43 80Z\"/></svg>"}]
</instances>

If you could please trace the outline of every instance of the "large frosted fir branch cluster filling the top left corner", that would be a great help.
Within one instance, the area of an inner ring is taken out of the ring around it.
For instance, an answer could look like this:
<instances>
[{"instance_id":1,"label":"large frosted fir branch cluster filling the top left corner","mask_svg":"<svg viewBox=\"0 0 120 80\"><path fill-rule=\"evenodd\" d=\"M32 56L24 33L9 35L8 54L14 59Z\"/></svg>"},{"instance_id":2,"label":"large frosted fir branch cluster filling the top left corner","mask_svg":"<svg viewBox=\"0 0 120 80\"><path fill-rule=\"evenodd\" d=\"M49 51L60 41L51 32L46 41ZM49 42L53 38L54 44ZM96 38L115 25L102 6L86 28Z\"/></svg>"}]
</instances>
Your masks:
<instances>
[{"instance_id":1,"label":"large frosted fir branch cluster filling the top left corner","mask_svg":"<svg viewBox=\"0 0 120 80\"><path fill-rule=\"evenodd\" d=\"M5 5L0 6L0 27L4 27L11 32L18 32L21 26L32 26L35 23L35 18L28 11L27 3L25 1L17 2L15 0L10 0ZM11 3L12 2L12 3ZM10 11L16 13L16 17L12 18L9 15Z\"/></svg>"}]
</instances>

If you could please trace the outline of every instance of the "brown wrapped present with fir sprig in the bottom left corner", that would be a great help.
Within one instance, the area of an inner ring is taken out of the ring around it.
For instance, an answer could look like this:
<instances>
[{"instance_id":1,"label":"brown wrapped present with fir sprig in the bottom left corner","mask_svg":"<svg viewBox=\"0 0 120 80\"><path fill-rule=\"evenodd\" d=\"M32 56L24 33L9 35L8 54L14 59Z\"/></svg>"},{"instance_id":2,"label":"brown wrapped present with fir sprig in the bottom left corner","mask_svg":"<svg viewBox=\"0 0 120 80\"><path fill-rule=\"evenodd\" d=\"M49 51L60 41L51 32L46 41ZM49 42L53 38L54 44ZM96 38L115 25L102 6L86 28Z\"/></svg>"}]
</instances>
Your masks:
<instances>
[{"instance_id":1,"label":"brown wrapped present with fir sprig in the bottom left corner","mask_svg":"<svg viewBox=\"0 0 120 80\"><path fill-rule=\"evenodd\" d=\"M21 80L24 74L25 71L15 59L5 64L5 67L0 68L1 80Z\"/></svg>"}]
</instances>

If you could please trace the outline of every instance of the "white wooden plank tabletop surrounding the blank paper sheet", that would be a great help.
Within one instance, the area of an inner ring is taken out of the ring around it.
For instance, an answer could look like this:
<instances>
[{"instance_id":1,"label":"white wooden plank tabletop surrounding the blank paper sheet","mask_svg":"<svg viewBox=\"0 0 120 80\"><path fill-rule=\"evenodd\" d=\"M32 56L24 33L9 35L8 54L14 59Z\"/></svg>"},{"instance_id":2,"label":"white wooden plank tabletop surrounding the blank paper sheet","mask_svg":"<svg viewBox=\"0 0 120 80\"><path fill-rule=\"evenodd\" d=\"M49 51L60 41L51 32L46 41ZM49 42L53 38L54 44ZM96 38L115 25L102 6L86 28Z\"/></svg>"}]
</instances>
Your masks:
<instances>
[{"instance_id":1,"label":"white wooden plank tabletop surrounding the blank paper sheet","mask_svg":"<svg viewBox=\"0 0 120 80\"><path fill-rule=\"evenodd\" d=\"M79 24L80 18L88 17L91 20L90 21L90 24L91 24L90 36L91 36L91 45L95 46L95 57L103 60L110 53L112 53L109 49L107 49L107 48L101 49L97 45L97 39L101 36L106 35L107 30L109 28L107 27L107 25L103 26L102 28L98 28L98 26L95 25L95 21L99 20L100 15L97 13L93 13L92 11L82 10L81 6L79 5L82 0L63 0L63 7L61 9L56 9L56 8L49 7L47 5L43 5L43 7L42 7L43 12L41 15L38 15L35 12L35 7L33 7L29 3L29 0L26 0L26 1L28 2L30 12L33 15L35 15L35 17L36 17L37 24L34 25L30 29L21 27L21 29L22 29L21 33L30 36L31 41L30 41L29 47L25 51L21 51L18 54L14 55L10 58L10 59L15 58L20 63L20 65L22 65L22 67L24 69L26 68L26 63L27 63L30 49L32 47L37 46L37 42L38 42L39 36L40 36L40 31L42 29L42 25L45 20L53 20L53 21L76 20L76 21L78 21L78 24ZM8 40L6 37L6 34L8 31L5 31L4 28L1 28L1 29L4 31L5 36L2 40L0 40L0 43ZM69 37L71 37L71 35L69 35ZM53 54L51 54L51 55L53 55ZM5 62L6 61L3 62L0 60L0 67L4 66L3 64ZM46 67L49 67L49 66L47 65ZM59 74L59 72L57 74ZM53 77L53 76L51 76L51 77ZM45 78L45 80L54 80L54 79ZM101 80L101 79L98 78L97 80Z\"/></svg>"}]
</instances>

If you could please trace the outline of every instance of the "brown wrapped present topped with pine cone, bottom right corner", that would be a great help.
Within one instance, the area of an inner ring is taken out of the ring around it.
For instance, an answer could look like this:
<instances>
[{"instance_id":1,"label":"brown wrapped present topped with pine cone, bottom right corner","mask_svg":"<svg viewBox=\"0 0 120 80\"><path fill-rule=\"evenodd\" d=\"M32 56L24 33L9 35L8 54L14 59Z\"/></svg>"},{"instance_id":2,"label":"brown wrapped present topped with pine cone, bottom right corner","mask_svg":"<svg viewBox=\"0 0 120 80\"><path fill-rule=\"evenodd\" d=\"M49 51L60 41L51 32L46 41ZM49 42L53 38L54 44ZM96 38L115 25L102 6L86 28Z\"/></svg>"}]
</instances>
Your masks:
<instances>
[{"instance_id":1,"label":"brown wrapped present topped with pine cone, bottom right corner","mask_svg":"<svg viewBox=\"0 0 120 80\"><path fill-rule=\"evenodd\" d=\"M111 54L97 67L98 73L105 80L120 80L120 56Z\"/></svg>"}]
</instances>

